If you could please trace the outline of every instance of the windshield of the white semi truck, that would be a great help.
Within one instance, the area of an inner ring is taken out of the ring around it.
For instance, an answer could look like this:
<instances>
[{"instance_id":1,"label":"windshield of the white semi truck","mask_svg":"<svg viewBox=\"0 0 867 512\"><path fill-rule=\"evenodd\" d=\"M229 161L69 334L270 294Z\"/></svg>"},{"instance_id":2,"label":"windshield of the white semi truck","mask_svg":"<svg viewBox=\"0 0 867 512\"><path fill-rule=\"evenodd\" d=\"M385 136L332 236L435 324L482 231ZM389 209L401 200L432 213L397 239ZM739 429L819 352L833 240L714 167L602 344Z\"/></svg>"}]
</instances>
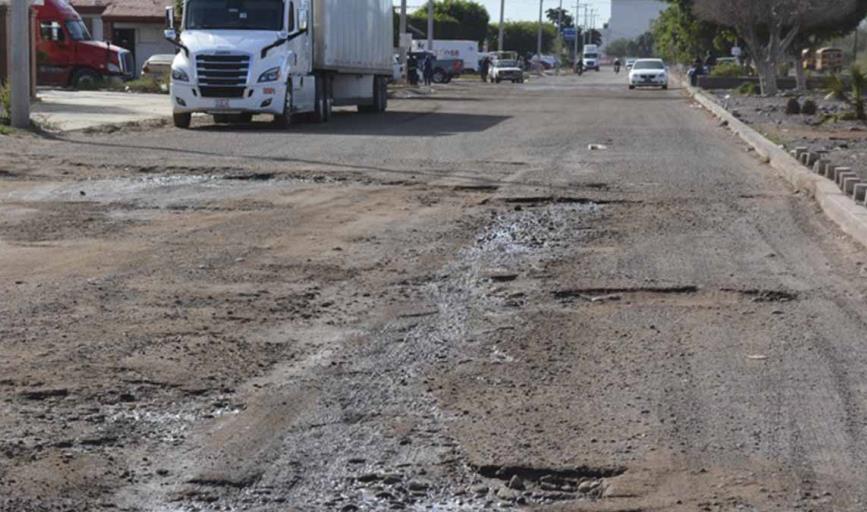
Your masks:
<instances>
[{"instance_id":1,"label":"windshield of the white semi truck","mask_svg":"<svg viewBox=\"0 0 867 512\"><path fill-rule=\"evenodd\" d=\"M273 30L283 29L283 0L190 0L187 3L188 30Z\"/></svg>"}]
</instances>

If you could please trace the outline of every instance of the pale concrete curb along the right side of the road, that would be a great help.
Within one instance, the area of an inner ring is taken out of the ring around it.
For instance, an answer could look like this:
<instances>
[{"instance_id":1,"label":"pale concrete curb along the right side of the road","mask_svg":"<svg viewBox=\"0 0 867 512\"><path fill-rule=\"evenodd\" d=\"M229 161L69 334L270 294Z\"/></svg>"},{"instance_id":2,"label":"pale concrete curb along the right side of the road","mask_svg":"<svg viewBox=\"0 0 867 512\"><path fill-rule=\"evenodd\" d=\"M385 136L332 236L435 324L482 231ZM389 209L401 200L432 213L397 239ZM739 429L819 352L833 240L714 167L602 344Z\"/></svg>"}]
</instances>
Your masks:
<instances>
[{"instance_id":1,"label":"pale concrete curb along the right side of the road","mask_svg":"<svg viewBox=\"0 0 867 512\"><path fill-rule=\"evenodd\" d=\"M867 247L867 209L859 206L853 199L863 195L865 191L864 187L858 186L862 183L860 180L846 179L849 176L846 172L851 169L832 167L821 159L822 155L808 153L805 148L797 148L792 151L792 154L787 153L736 118L713 98L690 86L686 81L680 81L699 105L726 123L729 130L749 144L763 162L780 173L795 189L810 194L822 208L825 216L858 243ZM807 164L813 165L813 172L806 167ZM852 197L843 192L846 189L851 190Z\"/></svg>"}]
</instances>

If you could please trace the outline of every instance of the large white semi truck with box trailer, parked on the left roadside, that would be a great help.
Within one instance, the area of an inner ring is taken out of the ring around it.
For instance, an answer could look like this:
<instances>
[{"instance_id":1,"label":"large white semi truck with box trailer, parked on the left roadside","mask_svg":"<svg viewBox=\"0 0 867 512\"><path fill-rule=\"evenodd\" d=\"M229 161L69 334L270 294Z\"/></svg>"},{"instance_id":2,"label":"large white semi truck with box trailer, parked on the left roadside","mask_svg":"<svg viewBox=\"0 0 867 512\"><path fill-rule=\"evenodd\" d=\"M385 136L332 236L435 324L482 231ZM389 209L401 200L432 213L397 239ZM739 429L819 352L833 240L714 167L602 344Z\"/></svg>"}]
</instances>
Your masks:
<instances>
[{"instance_id":1,"label":"large white semi truck with box trailer, parked on the left roadside","mask_svg":"<svg viewBox=\"0 0 867 512\"><path fill-rule=\"evenodd\" d=\"M390 0L185 0L166 8L175 126L271 114L326 122L335 106L384 112L392 74Z\"/></svg>"}]
</instances>

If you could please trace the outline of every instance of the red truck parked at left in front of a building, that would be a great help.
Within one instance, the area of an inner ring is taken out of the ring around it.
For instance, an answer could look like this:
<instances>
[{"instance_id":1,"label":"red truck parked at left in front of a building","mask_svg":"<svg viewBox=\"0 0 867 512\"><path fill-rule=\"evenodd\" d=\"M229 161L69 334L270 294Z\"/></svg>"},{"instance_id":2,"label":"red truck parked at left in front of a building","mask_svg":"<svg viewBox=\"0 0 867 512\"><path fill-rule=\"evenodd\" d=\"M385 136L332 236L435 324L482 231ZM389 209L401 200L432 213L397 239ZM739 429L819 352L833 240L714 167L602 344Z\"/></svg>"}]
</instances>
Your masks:
<instances>
[{"instance_id":1,"label":"red truck parked at left in front of a building","mask_svg":"<svg viewBox=\"0 0 867 512\"><path fill-rule=\"evenodd\" d=\"M132 76L132 54L119 46L93 41L67 0L45 0L35 9L39 85L93 87L103 78Z\"/></svg>"}]
</instances>

